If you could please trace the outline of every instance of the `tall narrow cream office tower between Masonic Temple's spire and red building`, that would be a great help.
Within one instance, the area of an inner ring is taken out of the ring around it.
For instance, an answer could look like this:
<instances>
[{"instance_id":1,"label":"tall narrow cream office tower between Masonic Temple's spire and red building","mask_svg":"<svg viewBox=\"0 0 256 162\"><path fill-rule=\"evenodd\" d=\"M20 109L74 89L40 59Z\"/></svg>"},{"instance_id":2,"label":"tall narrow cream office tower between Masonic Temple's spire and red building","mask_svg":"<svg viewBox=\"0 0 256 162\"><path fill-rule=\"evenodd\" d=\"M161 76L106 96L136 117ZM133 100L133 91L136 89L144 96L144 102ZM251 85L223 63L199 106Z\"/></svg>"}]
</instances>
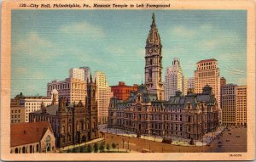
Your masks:
<instances>
[{"instance_id":1,"label":"tall narrow cream office tower between Masonic Temple's spire and red building","mask_svg":"<svg viewBox=\"0 0 256 162\"><path fill-rule=\"evenodd\" d=\"M96 80L96 101L98 109L99 124L108 122L109 100L113 97L113 92L108 86L107 76L102 71L96 71L94 78Z\"/></svg>"}]
</instances>

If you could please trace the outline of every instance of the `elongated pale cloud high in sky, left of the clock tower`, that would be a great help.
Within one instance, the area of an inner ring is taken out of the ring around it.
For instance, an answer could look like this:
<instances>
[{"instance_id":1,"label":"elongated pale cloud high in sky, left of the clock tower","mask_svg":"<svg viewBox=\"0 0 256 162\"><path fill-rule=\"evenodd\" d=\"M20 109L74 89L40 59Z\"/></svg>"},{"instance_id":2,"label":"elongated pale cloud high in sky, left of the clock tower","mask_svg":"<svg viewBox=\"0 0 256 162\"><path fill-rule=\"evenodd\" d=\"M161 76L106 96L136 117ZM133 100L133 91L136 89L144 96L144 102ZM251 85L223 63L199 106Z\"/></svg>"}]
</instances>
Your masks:
<instances>
[{"instance_id":1,"label":"elongated pale cloud high in sky, left of the clock tower","mask_svg":"<svg viewBox=\"0 0 256 162\"><path fill-rule=\"evenodd\" d=\"M105 36L102 27L91 25L87 22L77 22L74 24L62 25L60 30L69 36L85 36L91 39L103 38Z\"/></svg>"}]
</instances>

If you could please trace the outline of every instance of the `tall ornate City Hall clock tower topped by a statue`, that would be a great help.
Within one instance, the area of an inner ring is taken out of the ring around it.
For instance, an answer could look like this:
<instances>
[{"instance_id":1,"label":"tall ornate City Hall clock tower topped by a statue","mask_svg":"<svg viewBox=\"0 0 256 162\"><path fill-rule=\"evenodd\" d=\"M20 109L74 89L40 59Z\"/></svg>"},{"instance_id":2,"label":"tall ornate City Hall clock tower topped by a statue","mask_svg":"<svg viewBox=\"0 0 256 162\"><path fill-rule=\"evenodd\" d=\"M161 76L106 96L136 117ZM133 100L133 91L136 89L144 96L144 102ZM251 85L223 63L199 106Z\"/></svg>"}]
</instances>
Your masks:
<instances>
[{"instance_id":1,"label":"tall ornate City Hall clock tower topped by a statue","mask_svg":"<svg viewBox=\"0 0 256 162\"><path fill-rule=\"evenodd\" d=\"M162 44L155 25L154 13L151 29L146 42L145 85L149 93L156 94L158 100L164 100L164 83L162 82Z\"/></svg>"}]
</instances>

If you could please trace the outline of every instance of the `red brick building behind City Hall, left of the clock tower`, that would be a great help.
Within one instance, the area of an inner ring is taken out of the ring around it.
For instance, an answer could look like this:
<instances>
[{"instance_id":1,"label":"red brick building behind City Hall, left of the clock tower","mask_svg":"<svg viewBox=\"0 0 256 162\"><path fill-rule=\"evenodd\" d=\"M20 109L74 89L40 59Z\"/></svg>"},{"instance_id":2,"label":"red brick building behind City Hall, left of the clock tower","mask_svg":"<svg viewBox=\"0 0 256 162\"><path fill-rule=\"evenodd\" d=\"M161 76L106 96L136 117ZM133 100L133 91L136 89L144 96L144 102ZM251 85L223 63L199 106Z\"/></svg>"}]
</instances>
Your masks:
<instances>
[{"instance_id":1,"label":"red brick building behind City Hall, left of the clock tower","mask_svg":"<svg viewBox=\"0 0 256 162\"><path fill-rule=\"evenodd\" d=\"M113 92L113 96L117 97L119 100L126 100L129 98L131 91L137 91L137 87L137 84L126 86L124 81L119 81L119 85L112 86L111 91Z\"/></svg>"}]
</instances>

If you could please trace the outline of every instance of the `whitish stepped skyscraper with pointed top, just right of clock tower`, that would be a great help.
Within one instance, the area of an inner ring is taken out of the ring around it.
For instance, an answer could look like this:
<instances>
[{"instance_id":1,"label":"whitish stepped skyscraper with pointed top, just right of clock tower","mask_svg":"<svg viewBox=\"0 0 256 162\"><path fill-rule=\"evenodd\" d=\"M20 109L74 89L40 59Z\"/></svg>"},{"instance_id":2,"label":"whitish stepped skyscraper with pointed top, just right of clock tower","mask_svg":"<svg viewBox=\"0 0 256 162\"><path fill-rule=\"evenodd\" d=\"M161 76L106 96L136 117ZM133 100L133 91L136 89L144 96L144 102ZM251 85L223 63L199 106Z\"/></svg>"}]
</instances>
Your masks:
<instances>
[{"instance_id":1,"label":"whitish stepped skyscraper with pointed top, just right of clock tower","mask_svg":"<svg viewBox=\"0 0 256 162\"><path fill-rule=\"evenodd\" d=\"M183 76L179 59L174 58L172 66L166 69L165 100L168 100L171 96L175 96L177 91L186 95L187 82Z\"/></svg>"}]
</instances>

